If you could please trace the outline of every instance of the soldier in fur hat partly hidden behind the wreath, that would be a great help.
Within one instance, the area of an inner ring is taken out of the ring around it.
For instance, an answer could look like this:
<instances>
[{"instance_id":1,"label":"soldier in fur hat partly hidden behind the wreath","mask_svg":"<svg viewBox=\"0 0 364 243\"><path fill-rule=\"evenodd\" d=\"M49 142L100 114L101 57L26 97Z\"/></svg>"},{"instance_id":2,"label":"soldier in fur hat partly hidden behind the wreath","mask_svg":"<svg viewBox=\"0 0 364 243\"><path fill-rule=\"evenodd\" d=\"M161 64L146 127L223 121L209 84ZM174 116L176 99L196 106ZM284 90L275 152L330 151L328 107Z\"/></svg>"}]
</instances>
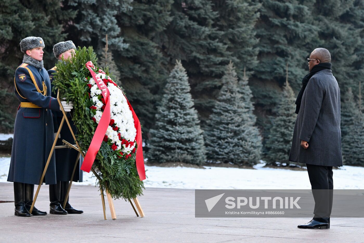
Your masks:
<instances>
[{"instance_id":1,"label":"soldier in fur hat partly hidden behind the wreath","mask_svg":"<svg viewBox=\"0 0 364 243\"><path fill-rule=\"evenodd\" d=\"M71 41L59 42L53 47L54 56L62 62L62 57L65 61L71 59L72 53L75 52L76 46ZM69 59L70 58L70 59ZM53 75L57 72L56 67L48 70L48 74L51 82L53 81ZM52 85L53 89L53 85ZM57 95L52 93L53 97ZM54 112L54 130L58 131L58 124L61 123L63 117L62 112ZM67 113L67 118L70 121L70 125L74 134L77 134L77 130L74 122L71 120L70 113ZM57 140L57 146L63 145L62 140L66 140L67 142L74 143L73 136L68 128L67 124L64 123L62 130L60 132L60 137ZM78 151L70 148L58 148L56 149L56 175L57 175L57 184L51 185L49 188L50 192L50 213L51 214L67 214L67 213L83 213L82 210L78 210L73 208L68 202L69 198L66 198L68 185L70 184L72 171L75 166L76 159L78 157ZM82 158L82 157L81 157ZM74 182L82 182L82 170L80 170L80 161L78 161L78 165L76 166L75 175L73 177ZM66 207L63 209L64 200L67 201Z\"/></svg>"}]
</instances>

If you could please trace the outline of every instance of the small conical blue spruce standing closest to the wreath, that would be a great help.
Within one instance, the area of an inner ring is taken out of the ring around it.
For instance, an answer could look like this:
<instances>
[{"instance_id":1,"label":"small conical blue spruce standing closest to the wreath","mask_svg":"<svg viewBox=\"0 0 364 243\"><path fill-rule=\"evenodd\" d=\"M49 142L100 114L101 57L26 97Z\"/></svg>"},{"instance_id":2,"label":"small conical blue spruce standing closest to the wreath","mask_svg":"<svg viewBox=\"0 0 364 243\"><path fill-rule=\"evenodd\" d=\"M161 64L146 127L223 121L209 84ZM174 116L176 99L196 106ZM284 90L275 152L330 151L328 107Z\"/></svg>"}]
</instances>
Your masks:
<instances>
[{"instance_id":1,"label":"small conical blue spruce standing closest to the wreath","mask_svg":"<svg viewBox=\"0 0 364 243\"><path fill-rule=\"evenodd\" d=\"M186 70L177 61L167 80L155 127L150 130L149 161L205 162L202 130L193 105Z\"/></svg>"}]
</instances>

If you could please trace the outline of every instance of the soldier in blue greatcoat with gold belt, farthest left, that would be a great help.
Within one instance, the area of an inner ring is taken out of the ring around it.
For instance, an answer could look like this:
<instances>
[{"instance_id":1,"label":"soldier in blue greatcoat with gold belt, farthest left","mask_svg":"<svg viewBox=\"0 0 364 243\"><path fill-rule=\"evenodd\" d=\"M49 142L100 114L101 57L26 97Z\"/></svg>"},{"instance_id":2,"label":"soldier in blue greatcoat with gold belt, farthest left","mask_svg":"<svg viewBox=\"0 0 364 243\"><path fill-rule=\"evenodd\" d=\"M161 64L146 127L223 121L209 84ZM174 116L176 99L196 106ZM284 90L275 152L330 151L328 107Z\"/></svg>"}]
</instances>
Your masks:
<instances>
[{"instance_id":1,"label":"soldier in blue greatcoat with gold belt, farthest left","mask_svg":"<svg viewBox=\"0 0 364 243\"><path fill-rule=\"evenodd\" d=\"M14 125L8 181L14 182L15 215L31 216L34 184L38 185L54 141L52 111L59 111L58 101L51 97L51 82L43 67L44 41L30 36L20 42L23 63L16 69L14 92L20 101ZM71 111L72 103L62 103ZM52 110L52 111L51 111ZM52 155L46 184L56 184L55 156ZM42 183L43 183L42 182ZM32 215L46 215L33 208Z\"/></svg>"}]
</instances>

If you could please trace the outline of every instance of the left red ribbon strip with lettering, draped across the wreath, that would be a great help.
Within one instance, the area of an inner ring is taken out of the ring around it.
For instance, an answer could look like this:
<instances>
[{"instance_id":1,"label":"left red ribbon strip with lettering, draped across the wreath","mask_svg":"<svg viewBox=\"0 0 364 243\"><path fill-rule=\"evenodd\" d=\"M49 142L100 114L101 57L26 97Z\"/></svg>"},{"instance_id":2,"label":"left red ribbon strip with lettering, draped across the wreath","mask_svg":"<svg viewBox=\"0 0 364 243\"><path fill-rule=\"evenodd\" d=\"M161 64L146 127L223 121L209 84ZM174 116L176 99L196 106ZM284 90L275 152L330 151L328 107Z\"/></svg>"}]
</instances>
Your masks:
<instances>
[{"instance_id":1,"label":"left red ribbon strip with lettering, draped across the wreath","mask_svg":"<svg viewBox=\"0 0 364 243\"><path fill-rule=\"evenodd\" d=\"M91 69L95 68L94 64L90 61L86 63L86 67L90 70L92 78L94 78L98 88L101 90L101 94L105 100L105 109L102 113L100 122L96 127L96 131L94 136L92 137L90 147L88 147L85 159L82 163L81 170L86 171L87 173L90 172L92 164L95 161L96 154L99 152L102 140L106 134L107 127L110 123L110 92L107 88L106 84L101 80L99 76L96 75L94 70Z\"/></svg>"}]
</instances>

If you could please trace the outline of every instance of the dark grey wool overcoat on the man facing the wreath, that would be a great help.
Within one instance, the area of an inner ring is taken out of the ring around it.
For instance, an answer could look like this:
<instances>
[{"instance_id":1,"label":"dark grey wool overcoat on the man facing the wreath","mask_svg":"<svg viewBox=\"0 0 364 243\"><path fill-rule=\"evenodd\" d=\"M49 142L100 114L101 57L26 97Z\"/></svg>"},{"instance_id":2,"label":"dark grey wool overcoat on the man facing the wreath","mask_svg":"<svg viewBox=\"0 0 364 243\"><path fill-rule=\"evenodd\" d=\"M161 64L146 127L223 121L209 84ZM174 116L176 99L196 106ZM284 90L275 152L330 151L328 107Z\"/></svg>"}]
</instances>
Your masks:
<instances>
[{"instance_id":1,"label":"dark grey wool overcoat on the man facing the wreath","mask_svg":"<svg viewBox=\"0 0 364 243\"><path fill-rule=\"evenodd\" d=\"M301 140L308 142L307 149L301 147ZM306 86L288 160L309 165L343 165L340 89L329 69L314 74Z\"/></svg>"}]
</instances>

